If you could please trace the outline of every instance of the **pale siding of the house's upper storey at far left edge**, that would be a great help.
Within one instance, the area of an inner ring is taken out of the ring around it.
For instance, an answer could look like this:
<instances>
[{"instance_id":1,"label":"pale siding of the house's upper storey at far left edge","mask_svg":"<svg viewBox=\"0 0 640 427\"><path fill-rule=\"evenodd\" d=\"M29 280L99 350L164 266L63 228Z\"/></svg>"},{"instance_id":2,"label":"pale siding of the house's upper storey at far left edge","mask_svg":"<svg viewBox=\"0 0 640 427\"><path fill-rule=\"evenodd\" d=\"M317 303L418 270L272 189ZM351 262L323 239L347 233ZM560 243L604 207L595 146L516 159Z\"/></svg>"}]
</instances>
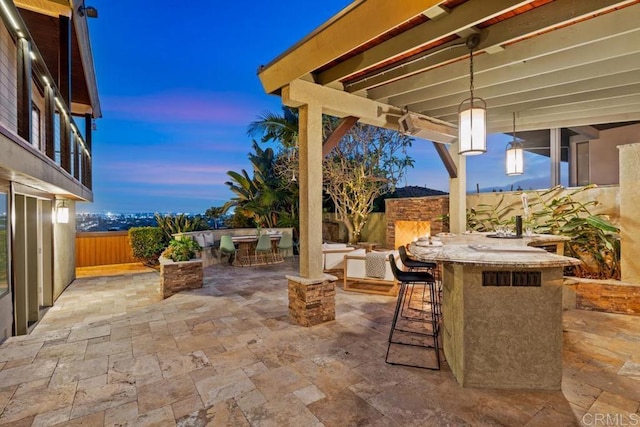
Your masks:
<instances>
[{"instance_id":1,"label":"pale siding of the house's upper storey at far left edge","mask_svg":"<svg viewBox=\"0 0 640 427\"><path fill-rule=\"evenodd\" d=\"M17 133L18 89L16 45L4 25L0 25L0 125Z\"/></svg>"}]
</instances>

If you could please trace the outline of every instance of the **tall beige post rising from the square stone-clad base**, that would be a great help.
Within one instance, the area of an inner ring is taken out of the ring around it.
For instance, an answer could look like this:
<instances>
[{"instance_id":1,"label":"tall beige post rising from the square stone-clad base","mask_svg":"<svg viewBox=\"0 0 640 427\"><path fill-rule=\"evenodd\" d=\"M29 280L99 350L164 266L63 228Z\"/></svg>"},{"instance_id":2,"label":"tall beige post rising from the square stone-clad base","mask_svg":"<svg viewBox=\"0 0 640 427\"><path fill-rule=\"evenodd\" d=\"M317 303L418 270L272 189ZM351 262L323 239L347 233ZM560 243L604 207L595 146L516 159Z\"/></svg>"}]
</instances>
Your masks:
<instances>
[{"instance_id":1,"label":"tall beige post rising from the square stone-clad base","mask_svg":"<svg viewBox=\"0 0 640 427\"><path fill-rule=\"evenodd\" d=\"M298 109L300 146L300 276L320 279L322 272L322 108Z\"/></svg>"}]
</instances>

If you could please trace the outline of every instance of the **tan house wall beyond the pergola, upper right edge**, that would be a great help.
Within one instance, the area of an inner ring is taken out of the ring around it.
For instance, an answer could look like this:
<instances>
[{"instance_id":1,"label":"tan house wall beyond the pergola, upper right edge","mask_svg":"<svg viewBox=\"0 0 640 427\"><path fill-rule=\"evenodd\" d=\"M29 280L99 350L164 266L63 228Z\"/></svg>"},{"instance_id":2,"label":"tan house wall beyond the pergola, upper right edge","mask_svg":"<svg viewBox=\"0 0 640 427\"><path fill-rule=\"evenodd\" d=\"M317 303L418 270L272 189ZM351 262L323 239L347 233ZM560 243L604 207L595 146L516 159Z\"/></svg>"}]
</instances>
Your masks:
<instances>
[{"instance_id":1,"label":"tan house wall beyond the pergola, upper right edge","mask_svg":"<svg viewBox=\"0 0 640 427\"><path fill-rule=\"evenodd\" d=\"M600 138L589 141L589 173L593 184L620 182L618 146L640 142L640 124L600 131Z\"/></svg>"}]
</instances>

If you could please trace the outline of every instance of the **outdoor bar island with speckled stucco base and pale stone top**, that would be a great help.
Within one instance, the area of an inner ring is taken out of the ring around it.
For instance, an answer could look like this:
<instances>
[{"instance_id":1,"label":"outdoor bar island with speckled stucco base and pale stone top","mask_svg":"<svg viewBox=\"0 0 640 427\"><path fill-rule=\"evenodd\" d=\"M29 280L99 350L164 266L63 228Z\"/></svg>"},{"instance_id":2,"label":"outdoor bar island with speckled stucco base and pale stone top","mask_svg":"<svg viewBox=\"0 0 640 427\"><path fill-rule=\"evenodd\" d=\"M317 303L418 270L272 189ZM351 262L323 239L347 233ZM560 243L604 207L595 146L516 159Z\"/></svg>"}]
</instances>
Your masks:
<instances>
[{"instance_id":1,"label":"outdoor bar island with speckled stucco base and pale stone top","mask_svg":"<svg viewBox=\"0 0 640 427\"><path fill-rule=\"evenodd\" d=\"M463 387L560 389L563 268L580 261L530 245L563 240L472 233L410 245L442 265L444 354Z\"/></svg>"}]
</instances>

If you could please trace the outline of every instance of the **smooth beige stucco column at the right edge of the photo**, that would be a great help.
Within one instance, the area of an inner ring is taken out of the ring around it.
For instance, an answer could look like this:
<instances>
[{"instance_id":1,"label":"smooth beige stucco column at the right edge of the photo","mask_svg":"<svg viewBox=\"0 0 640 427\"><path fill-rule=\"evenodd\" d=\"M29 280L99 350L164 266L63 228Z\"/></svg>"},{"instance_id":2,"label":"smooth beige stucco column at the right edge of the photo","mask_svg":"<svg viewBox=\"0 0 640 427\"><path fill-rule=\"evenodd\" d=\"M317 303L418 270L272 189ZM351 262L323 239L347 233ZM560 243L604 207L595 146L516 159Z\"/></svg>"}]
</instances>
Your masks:
<instances>
[{"instance_id":1,"label":"smooth beige stucco column at the right edge of the photo","mask_svg":"<svg viewBox=\"0 0 640 427\"><path fill-rule=\"evenodd\" d=\"M625 282L640 283L640 144L618 146L620 156L620 269Z\"/></svg>"}]
</instances>

